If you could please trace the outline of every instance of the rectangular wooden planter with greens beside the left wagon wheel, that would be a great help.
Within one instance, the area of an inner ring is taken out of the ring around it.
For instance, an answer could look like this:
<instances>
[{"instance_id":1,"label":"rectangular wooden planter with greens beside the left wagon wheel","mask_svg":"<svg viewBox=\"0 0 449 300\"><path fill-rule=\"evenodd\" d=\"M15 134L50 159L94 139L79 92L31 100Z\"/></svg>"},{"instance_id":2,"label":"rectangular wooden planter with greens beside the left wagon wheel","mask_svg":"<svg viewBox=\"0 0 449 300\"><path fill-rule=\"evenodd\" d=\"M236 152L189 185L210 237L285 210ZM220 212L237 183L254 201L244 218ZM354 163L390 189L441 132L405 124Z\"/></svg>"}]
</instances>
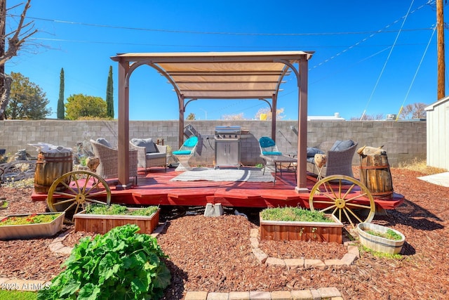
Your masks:
<instances>
[{"instance_id":1,"label":"rectangular wooden planter with greens beside the left wagon wheel","mask_svg":"<svg viewBox=\"0 0 449 300\"><path fill-rule=\"evenodd\" d=\"M74 214L75 231L107 233L125 224L140 227L139 233L152 233L159 224L159 207L130 208L120 204L93 204Z\"/></svg>"}]
</instances>

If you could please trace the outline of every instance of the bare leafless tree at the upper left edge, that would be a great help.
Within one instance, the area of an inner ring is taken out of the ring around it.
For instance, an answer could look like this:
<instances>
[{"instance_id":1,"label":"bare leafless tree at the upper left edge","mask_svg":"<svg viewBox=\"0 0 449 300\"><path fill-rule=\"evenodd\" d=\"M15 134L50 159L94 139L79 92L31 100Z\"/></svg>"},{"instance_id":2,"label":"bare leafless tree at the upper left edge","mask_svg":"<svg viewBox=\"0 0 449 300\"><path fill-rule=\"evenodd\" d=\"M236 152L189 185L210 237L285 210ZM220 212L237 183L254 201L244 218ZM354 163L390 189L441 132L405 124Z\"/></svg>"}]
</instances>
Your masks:
<instances>
[{"instance_id":1,"label":"bare leafless tree at the upper left edge","mask_svg":"<svg viewBox=\"0 0 449 300\"><path fill-rule=\"evenodd\" d=\"M31 0L27 0L17 28L12 32L6 33L6 0L0 0L0 120L5 118L4 112L9 101L9 94L11 91L11 77L5 74L5 63L11 58L18 55L18 51L23 46L25 41L37 32L34 29L33 22L25 23L27 11L30 8ZM20 5L20 4L19 4ZM15 8L17 6L14 6ZM6 40L8 43L6 43ZM8 46L6 48L6 46Z\"/></svg>"}]
</instances>

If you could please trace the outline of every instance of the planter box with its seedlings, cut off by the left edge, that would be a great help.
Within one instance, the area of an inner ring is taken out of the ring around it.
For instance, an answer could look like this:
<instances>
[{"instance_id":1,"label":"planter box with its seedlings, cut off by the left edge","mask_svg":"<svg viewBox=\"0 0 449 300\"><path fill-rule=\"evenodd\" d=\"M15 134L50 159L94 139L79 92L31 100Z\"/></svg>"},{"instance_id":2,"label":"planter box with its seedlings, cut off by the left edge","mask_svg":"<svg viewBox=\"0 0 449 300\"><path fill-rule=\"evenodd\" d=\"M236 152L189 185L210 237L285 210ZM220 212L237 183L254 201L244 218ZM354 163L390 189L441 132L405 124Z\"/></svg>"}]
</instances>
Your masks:
<instances>
[{"instance_id":1,"label":"planter box with its seedlings, cut off by the left edge","mask_svg":"<svg viewBox=\"0 0 449 300\"><path fill-rule=\"evenodd\" d=\"M50 237L62 229L64 212L12 214L0 220L0 239Z\"/></svg>"}]
</instances>

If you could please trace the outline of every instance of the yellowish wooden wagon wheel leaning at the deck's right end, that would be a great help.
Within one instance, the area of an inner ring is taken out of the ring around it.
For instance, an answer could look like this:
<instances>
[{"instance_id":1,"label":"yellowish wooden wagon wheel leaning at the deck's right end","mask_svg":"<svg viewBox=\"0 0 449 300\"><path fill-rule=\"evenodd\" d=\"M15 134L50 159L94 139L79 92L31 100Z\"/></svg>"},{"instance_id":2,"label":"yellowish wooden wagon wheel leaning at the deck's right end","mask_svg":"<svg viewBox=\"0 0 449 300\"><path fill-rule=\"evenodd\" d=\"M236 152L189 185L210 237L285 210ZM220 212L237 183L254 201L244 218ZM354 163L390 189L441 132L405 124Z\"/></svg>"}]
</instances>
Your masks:
<instances>
[{"instance_id":1,"label":"yellowish wooden wagon wheel leaning at the deck's right end","mask_svg":"<svg viewBox=\"0 0 449 300\"><path fill-rule=\"evenodd\" d=\"M333 181L333 183L331 183ZM346 218L354 228L355 223L369 223L375 215L375 202L368 188L355 178L333 175L318 181L309 196L311 211L317 209Z\"/></svg>"}]
</instances>

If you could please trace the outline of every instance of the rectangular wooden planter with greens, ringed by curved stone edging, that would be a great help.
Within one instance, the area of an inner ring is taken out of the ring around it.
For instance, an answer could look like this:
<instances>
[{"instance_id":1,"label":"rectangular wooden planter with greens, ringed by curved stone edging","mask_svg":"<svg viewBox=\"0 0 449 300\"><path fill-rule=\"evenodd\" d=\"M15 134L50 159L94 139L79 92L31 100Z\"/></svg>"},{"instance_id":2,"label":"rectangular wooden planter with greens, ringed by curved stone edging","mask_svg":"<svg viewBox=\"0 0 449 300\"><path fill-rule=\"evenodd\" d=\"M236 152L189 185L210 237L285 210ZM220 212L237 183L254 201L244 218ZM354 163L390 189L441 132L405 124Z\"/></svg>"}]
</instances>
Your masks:
<instances>
[{"instance_id":1,"label":"rectangular wooden planter with greens, ringed by curved stone edging","mask_svg":"<svg viewBox=\"0 0 449 300\"><path fill-rule=\"evenodd\" d=\"M343 224L332 214L300 207L276 207L260 212L261 240L303 240L342 243Z\"/></svg>"}]
</instances>

